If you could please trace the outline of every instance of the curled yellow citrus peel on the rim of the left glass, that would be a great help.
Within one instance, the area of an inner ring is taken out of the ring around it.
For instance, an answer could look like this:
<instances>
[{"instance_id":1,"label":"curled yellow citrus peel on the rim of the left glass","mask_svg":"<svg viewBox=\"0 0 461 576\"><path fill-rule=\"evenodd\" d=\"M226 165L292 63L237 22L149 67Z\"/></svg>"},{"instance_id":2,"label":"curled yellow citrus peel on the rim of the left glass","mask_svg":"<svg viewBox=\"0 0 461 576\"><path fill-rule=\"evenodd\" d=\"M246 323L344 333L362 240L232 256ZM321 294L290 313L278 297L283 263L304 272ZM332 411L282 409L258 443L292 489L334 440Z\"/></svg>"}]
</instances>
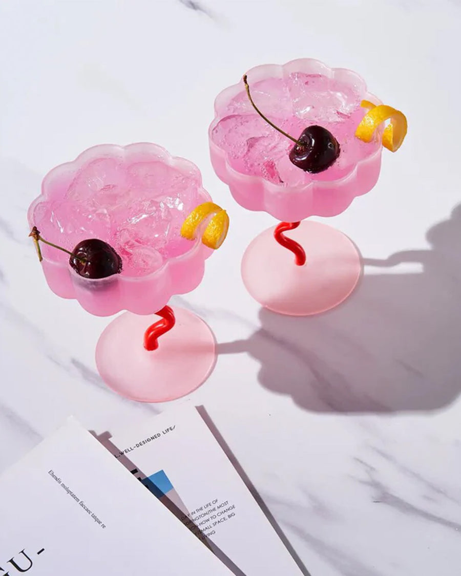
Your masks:
<instances>
[{"instance_id":1,"label":"curled yellow citrus peel on the rim of the left glass","mask_svg":"<svg viewBox=\"0 0 461 576\"><path fill-rule=\"evenodd\" d=\"M202 242L213 250L218 249L224 242L229 229L229 216L221 206L213 202L205 202L197 206L184 220L181 236L187 240L195 240L197 230L202 223L210 218L202 234Z\"/></svg>"}]
</instances>

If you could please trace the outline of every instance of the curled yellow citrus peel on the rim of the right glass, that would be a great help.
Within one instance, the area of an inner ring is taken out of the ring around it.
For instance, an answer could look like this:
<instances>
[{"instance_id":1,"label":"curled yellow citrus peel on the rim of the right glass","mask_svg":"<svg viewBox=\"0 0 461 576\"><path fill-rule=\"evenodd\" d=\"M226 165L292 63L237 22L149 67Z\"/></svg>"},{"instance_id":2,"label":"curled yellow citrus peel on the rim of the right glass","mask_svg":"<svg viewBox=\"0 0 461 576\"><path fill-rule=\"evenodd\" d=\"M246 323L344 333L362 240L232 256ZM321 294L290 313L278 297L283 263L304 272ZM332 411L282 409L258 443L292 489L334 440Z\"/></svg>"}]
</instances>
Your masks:
<instances>
[{"instance_id":1,"label":"curled yellow citrus peel on the rim of the right glass","mask_svg":"<svg viewBox=\"0 0 461 576\"><path fill-rule=\"evenodd\" d=\"M392 106L376 105L368 100L362 100L361 106L368 108L368 112L357 126L356 137L364 142L371 142L377 127L386 120L390 120L390 123L384 128L383 146L391 152L398 150L407 133L405 114L392 108Z\"/></svg>"}]
</instances>

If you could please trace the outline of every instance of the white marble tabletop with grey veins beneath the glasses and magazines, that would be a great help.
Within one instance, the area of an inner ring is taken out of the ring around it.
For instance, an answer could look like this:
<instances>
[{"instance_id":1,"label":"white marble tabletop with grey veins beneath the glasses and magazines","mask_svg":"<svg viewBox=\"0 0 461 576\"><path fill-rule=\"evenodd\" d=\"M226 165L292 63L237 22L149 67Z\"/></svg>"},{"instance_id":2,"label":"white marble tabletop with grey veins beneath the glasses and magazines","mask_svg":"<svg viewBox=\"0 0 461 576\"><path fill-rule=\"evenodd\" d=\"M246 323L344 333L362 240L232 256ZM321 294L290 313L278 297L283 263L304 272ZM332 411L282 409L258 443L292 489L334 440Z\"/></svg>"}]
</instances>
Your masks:
<instances>
[{"instance_id":1,"label":"white marble tabletop with grey veins beneath the glasses and magazines","mask_svg":"<svg viewBox=\"0 0 461 576\"><path fill-rule=\"evenodd\" d=\"M105 388L108 319L48 290L28 204L52 166L102 142L153 141L202 170L232 228L176 304L220 355L192 399L312 576L461 570L459 0L0 4L0 469L69 414L115 433L167 408ZM309 56L360 73L406 112L376 188L330 223L368 265L340 308L261 311L244 248L274 223L241 209L207 150L213 99L259 63ZM372 263L369 263L372 264Z\"/></svg>"}]
</instances>

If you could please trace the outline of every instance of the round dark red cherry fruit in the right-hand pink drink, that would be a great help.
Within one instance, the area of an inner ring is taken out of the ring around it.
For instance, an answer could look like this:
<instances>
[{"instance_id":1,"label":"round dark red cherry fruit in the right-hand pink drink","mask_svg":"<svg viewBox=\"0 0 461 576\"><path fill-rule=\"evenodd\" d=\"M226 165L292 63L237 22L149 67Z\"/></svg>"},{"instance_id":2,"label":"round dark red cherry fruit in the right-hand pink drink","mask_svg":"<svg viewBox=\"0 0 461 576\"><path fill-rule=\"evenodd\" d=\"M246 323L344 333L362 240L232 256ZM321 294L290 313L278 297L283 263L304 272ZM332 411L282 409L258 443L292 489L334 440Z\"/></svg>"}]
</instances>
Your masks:
<instances>
[{"instance_id":1,"label":"round dark red cherry fruit in the right-hand pink drink","mask_svg":"<svg viewBox=\"0 0 461 576\"><path fill-rule=\"evenodd\" d=\"M290 150L292 163L311 174L330 168L338 156L337 139L322 126L309 126L303 130L298 143Z\"/></svg>"}]
</instances>

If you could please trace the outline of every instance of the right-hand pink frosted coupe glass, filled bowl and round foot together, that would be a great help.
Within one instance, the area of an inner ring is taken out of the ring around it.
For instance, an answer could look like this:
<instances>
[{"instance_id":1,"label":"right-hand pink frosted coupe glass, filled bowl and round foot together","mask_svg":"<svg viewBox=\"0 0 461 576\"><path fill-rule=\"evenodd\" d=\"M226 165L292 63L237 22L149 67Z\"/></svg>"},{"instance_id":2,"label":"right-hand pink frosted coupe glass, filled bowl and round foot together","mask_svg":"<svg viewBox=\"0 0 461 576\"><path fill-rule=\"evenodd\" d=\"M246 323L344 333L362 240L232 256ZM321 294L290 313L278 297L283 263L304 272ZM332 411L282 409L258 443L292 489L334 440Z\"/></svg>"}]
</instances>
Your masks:
<instances>
[{"instance_id":1,"label":"right-hand pink frosted coupe glass, filled bowl and round foot together","mask_svg":"<svg viewBox=\"0 0 461 576\"><path fill-rule=\"evenodd\" d=\"M313 215L338 215L373 188L381 166L382 130L370 143L354 132L366 112L361 101L380 101L367 92L360 76L312 59L257 66L247 76L255 104L271 122L294 138L311 125L327 128L341 153L324 172L304 172L289 160L293 142L260 118L243 81L226 88L214 103L210 156L241 206L298 223ZM256 237L245 251L242 275L254 298L275 312L300 316L345 300L361 272L352 241L318 222L293 225L285 238L304 248L302 266L274 240L274 229Z\"/></svg>"}]
</instances>

